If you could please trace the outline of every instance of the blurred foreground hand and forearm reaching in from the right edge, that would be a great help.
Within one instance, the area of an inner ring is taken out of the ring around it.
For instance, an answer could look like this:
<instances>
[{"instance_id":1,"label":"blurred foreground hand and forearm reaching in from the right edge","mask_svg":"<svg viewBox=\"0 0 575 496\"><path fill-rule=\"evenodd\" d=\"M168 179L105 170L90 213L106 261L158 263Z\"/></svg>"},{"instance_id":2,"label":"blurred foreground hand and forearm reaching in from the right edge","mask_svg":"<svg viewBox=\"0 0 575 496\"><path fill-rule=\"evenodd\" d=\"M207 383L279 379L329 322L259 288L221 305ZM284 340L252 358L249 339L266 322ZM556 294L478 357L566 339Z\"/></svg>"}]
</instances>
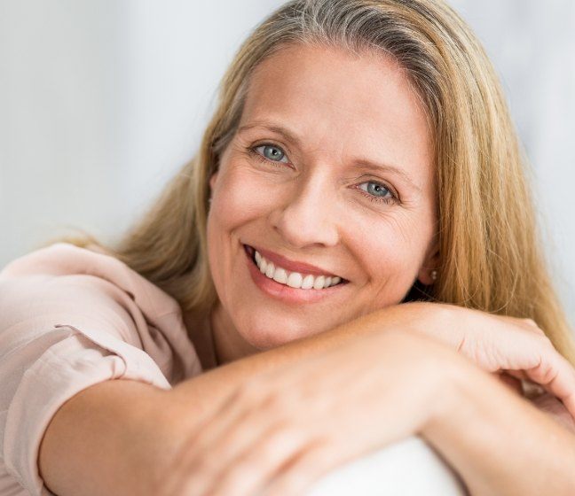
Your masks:
<instances>
[{"instance_id":1,"label":"blurred foreground hand and forearm reaching in from the right edge","mask_svg":"<svg viewBox=\"0 0 575 496\"><path fill-rule=\"evenodd\" d=\"M189 439L183 462L167 471L178 479L169 488L243 496L265 487L266 495L292 496L342 462L414 434L445 456L473 496L571 494L575 484L569 430L421 333L360 338L253 386Z\"/></svg>"}]
</instances>

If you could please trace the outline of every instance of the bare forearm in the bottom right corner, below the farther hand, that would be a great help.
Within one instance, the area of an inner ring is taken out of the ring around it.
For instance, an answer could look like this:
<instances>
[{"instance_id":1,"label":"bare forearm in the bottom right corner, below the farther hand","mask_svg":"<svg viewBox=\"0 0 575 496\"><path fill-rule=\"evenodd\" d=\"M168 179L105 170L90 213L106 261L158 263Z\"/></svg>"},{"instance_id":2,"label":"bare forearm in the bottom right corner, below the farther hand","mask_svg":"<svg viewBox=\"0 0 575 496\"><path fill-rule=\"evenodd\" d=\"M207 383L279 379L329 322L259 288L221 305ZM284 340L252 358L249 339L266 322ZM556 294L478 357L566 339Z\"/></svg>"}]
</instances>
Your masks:
<instances>
[{"instance_id":1,"label":"bare forearm in the bottom right corner, below the farther hand","mask_svg":"<svg viewBox=\"0 0 575 496\"><path fill-rule=\"evenodd\" d=\"M495 377L456 361L443 414L422 436L471 495L575 493L575 435Z\"/></svg>"}]
</instances>

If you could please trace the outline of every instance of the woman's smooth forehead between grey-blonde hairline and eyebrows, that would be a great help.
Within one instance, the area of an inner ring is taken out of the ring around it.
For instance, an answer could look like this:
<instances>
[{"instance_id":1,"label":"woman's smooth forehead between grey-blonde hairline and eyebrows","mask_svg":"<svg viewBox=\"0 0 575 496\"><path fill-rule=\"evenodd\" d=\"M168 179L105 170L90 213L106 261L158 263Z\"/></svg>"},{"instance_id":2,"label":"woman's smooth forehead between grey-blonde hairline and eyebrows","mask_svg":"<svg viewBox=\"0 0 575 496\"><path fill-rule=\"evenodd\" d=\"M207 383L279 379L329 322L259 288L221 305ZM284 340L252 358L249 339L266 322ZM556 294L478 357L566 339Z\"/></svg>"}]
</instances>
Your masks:
<instances>
[{"instance_id":1,"label":"woman's smooth forehead between grey-blonde hairline and eyebrows","mask_svg":"<svg viewBox=\"0 0 575 496\"><path fill-rule=\"evenodd\" d=\"M293 130L303 152L431 167L425 112L405 70L383 54L309 45L280 50L252 74L240 127L265 122Z\"/></svg>"}]
</instances>

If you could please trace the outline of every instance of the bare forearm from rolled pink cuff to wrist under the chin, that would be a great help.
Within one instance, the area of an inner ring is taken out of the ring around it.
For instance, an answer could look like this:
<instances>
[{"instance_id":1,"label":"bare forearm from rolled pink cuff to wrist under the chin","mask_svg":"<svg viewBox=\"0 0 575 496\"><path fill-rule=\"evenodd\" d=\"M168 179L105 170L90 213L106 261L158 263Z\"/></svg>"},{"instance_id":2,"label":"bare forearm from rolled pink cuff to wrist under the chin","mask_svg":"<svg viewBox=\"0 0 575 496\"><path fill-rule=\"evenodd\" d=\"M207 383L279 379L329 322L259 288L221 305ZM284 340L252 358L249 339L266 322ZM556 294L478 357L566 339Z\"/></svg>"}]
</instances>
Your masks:
<instances>
[{"instance_id":1,"label":"bare forearm from rolled pink cuff to wrist under the chin","mask_svg":"<svg viewBox=\"0 0 575 496\"><path fill-rule=\"evenodd\" d=\"M233 361L162 391L115 380L80 391L59 408L45 431L38 465L44 484L59 496L82 493L145 495L202 416L213 412L251 377L310 357L360 336L401 326L407 307L388 307L264 353ZM411 318L423 310L409 306Z\"/></svg>"}]
</instances>

